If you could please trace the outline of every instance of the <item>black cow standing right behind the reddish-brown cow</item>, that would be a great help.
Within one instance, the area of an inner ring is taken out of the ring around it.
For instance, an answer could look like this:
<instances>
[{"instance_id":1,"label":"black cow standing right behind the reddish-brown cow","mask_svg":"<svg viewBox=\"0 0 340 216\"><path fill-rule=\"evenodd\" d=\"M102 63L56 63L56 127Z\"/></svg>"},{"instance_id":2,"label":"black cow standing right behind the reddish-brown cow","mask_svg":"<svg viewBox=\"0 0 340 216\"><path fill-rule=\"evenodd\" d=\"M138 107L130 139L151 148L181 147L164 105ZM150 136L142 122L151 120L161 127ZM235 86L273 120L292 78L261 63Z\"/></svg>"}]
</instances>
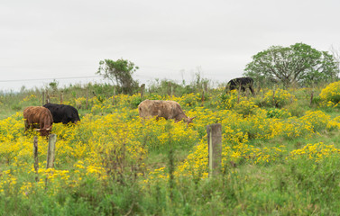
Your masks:
<instances>
[{"instance_id":1,"label":"black cow standing right behind the reddish-brown cow","mask_svg":"<svg viewBox=\"0 0 340 216\"><path fill-rule=\"evenodd\" d=\"M53 122L62 122L67 124L69 122L76 123L80 121L78 111L76 108L70 105L56 104L56 103L46 103L43 105L50 110L53 116Z\"/></svg>"}]
</instances>

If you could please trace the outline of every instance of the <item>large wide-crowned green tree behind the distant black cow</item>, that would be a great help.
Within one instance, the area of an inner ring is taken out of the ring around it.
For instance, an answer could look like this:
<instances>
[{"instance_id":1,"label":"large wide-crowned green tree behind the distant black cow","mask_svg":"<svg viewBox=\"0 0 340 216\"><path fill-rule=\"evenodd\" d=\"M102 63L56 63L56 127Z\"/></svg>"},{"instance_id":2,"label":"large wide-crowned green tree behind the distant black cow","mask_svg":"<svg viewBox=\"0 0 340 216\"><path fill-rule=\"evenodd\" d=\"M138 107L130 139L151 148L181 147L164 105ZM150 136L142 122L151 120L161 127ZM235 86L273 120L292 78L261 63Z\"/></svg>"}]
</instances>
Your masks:
<instances>
[{"instance_id":1,"label":"large wide-crowned green tree behind the distant black cow","mask_svg":"<svg viewBox=\"0 0 340 216\"><path fill-rule=\"evenodd\" d=\"M279 80L283 85L311 85L337 78L335 58L304 43L290 47L272 46L253 56L245 67L245 76L257 81Z\"/></svg>"}]
</instances>

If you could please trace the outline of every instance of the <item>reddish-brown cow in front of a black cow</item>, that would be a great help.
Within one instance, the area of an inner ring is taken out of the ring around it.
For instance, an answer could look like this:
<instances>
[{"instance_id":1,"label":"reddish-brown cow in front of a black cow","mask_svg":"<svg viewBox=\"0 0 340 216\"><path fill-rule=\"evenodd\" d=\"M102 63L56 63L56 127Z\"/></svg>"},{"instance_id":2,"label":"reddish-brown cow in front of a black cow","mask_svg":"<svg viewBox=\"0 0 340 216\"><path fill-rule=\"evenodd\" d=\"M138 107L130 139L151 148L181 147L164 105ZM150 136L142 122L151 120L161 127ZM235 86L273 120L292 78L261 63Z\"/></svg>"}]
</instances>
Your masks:
<instances>
[{"instance_id":1,"label":"reddish-brown cow in front of a black cow","mask_svg":"<svg viewBox=\"0 0 340 216\"><path fill-rule=\"evenodd\" d=\"M42 106L29 106L23 110L25 131L35 128L41 136L48 136L52 130L53 117L49 109Z\"/></svg>"}]
</instances>

